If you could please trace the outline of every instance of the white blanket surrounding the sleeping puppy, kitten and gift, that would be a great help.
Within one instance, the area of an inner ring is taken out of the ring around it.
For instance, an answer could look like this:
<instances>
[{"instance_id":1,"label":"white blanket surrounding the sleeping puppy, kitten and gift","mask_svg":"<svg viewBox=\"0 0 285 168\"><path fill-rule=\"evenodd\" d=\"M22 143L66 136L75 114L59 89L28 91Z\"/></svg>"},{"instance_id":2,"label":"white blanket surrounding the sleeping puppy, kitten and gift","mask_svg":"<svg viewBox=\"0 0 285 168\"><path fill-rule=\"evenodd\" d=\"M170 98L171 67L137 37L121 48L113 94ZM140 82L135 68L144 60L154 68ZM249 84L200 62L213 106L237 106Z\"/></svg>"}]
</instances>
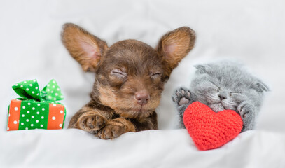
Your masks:
<instances>
[{"instance_id":1,"label":"white blanket surrounding the sleeping puppy, kitten and gift","mask_svg":"<svg viewBox=\"0 0 285 168\"><path fill-rule=\"evenodd\" d=\"M270 1L0 1L0 167L285 167L285 2ZM155 47L181 26L197 33L195 48L176 68L157 109L160 130L102 140L81 130L6 131L11 86L36 78L40 89L55 78L67 120L89 101L95 80L83 73L60 41L73 22L109 45L127 38ZM237 59L270 86L255 131L221 148L198 151L176 129L171 96L188 86L194 64Z\"/></svg>"}]
</instances>

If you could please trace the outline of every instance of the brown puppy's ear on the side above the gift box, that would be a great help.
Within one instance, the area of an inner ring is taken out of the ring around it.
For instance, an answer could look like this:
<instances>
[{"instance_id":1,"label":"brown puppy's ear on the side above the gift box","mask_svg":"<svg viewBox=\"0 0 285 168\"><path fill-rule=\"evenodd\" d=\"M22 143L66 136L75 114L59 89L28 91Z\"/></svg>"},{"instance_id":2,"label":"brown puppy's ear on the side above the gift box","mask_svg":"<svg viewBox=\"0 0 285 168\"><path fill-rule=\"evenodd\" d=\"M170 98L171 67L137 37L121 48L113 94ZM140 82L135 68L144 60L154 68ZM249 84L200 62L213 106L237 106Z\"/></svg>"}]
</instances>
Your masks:
<instances>
[{"instance_id":1,"label":"brown puppy's ear on the side above the gift box","mask_svg":"<svg viewBox=\"0 0 285 168\"><path fill-rule=\"evenodd\" d=\"M96 71L101 57L108 49L105 41L72 23L63 25L62 43L84 71Z\"/></svg>"}]
</instances>

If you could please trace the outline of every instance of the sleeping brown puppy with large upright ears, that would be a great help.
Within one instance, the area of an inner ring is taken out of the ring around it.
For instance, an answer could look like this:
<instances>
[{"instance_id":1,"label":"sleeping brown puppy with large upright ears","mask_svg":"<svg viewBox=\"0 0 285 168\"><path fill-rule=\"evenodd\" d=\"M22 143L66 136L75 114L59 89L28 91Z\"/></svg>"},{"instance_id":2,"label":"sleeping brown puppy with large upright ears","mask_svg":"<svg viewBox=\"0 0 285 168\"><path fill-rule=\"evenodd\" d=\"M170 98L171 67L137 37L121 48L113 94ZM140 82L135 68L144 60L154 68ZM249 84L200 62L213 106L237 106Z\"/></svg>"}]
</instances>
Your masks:
<instances>
[{"instance_id":1,"label":"sleeping brown puppy with large upright ears","mask_svg":"<svg viewBox=\"0 0 285 168\"><path fill-rule=\"evenodd\" d=\"M155 108L172 70L193 48L195 33L181 27L162 36L156 49L136 40L105 41L77 25L63 26L62 42L84 71L96 73L91 100L72 118L102 139L157 129Z\"/></svg>"}]
</instances>

